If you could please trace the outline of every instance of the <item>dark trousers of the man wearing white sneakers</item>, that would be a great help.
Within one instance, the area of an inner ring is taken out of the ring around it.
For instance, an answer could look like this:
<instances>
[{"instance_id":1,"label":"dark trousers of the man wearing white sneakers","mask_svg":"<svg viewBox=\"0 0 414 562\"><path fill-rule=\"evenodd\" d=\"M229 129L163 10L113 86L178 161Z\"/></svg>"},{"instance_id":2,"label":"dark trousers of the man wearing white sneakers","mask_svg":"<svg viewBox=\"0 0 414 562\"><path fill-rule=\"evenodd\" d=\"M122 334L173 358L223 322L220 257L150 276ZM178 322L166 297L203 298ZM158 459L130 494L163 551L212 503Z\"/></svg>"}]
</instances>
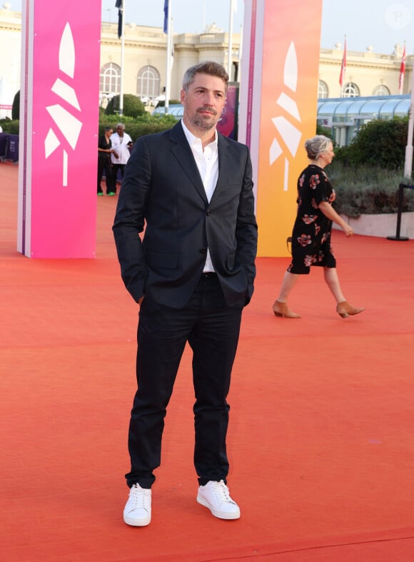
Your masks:
<instances>
[{"instance_id":1,"label":"dark trousers of the man wearing white sneakers","mask_svg":"<svg viewBox=\"0 0 414 562\"><path fill-rule=\"evenodd\" d=\"M176 310L144 297L139 312L136 376L128 434L128 486L151 488L161 461L166 407L186 342L193 351L196 402L194 466L201 485L226 481L226 401L238 344L241 307L228 307L216 275L203 275L186 307Z\"/></svg>"}]
</instances>

